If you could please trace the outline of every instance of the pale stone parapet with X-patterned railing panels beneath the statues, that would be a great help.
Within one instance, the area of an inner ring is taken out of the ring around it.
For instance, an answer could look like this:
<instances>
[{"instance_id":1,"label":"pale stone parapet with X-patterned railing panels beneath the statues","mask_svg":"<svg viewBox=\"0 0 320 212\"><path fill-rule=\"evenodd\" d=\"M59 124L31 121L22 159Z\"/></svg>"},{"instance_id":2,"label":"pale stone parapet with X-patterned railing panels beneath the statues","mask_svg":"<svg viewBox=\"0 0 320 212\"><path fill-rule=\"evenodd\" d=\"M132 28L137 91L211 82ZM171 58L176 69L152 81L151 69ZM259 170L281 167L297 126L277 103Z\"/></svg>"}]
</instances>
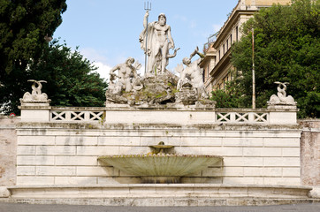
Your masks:
<instances>
[{"instance_id":1,"label":"pale stone parapet with X-patterned railing panels beneath the statues","mask_svg":"<svg viewBox=\"0 0 320 212\"><path fill-rule=\"evenodd\" d=\"M196 107L109 107L21 106L22 122L105 122L108 123L193 123L201 116L202 124L296 125L295 106L269 106L267 109L214 109ZM155 113L155 111L157 111ZM152 116L151 116L152 115ZM167 117L171 117L169 120ZM165 119L165 120L164 120ZM199 119L198 119L199 120Z\"/></svg>"}]
</instances>

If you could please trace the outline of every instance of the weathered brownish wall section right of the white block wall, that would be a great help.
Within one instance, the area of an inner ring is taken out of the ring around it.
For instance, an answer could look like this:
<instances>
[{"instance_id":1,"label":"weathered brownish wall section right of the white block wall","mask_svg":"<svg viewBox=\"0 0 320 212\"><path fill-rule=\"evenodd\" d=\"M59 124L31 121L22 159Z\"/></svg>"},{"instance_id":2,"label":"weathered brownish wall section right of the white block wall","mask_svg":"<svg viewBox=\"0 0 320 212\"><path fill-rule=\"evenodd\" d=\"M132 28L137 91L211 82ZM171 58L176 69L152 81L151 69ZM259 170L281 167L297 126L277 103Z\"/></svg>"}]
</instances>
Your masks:
<instances>
[{"instance_id":1,"label":"weathered brownish wall section right of the white block wall","mask_svg":"<svg viewBox=\"0 0 320 212\"><path fill-rule=\"evenodd\" d=\"M320 119L301 120L301 183L320 186Z\"/></svg>"}]
</instances>

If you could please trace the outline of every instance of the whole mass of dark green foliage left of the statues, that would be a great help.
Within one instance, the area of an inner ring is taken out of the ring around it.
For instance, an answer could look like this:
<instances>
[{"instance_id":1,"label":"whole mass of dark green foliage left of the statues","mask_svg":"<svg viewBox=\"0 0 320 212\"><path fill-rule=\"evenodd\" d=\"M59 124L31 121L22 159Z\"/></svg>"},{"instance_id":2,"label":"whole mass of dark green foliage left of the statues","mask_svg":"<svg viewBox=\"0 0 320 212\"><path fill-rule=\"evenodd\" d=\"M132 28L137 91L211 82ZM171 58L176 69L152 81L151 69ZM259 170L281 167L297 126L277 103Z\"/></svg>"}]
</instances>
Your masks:
<instances>
[{"instance_id":1,"label":"whole mass of dark green foliage left of the statues","mask_svg":"<svg viewBox=\"0 0 320 212\"><path fill-rule=\"evenodd\" d=\"M78 51L50 37L62 22L66 0L0 0L0 112L19 114L19 98L31 91L27 79L46 80L51 105L103 106L95 67Z\"/></svg>"}]
</instances>

